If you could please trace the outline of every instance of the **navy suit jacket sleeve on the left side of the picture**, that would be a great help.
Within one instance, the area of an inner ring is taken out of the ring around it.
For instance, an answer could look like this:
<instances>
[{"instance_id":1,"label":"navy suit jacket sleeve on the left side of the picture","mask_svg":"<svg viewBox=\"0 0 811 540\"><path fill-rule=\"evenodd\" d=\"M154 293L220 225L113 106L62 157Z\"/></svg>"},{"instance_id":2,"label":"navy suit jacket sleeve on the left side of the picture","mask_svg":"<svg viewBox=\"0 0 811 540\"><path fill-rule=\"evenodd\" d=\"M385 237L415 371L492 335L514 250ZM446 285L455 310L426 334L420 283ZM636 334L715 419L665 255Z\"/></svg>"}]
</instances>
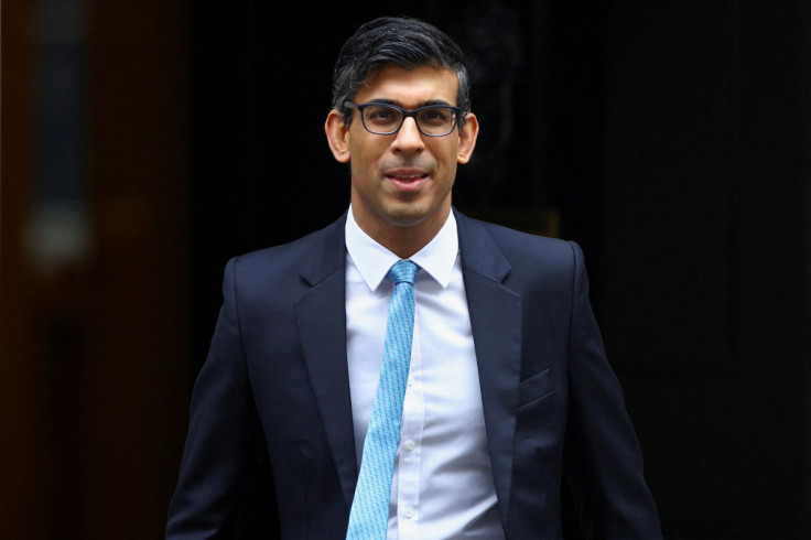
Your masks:
<instances>
[{"instance_id":1,"label":"navy suit jacket sleeve on the left side of the picture","mask_svg":"<svg viewBox=\"0 0 811 540\"><path fill-rule=\"evenodd\" d=\"M240 336L236 264L233 259L226 267L223 307L192 396L167 539L238 536L233 529L246 521L246 503L252 498L264 462Z\"/></svg>"}]
</instances>

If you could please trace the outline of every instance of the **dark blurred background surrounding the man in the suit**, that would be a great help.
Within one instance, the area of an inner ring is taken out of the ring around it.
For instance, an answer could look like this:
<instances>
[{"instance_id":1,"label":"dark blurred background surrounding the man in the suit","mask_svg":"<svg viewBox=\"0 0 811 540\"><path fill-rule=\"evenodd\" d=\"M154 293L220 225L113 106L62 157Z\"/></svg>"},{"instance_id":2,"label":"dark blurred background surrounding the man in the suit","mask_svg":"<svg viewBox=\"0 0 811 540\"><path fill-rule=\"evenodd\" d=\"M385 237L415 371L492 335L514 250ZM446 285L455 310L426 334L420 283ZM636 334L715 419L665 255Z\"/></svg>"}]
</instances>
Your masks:
<instances>
[{"instance_id":1,"label":"dark blurred background surrounding the man in the suit","mask_svg":"<svg viewBox=\"0 0 811 540\"><path fill-rule=\"evenodd\" d=\"M666 538L811 533L809 2L2 8L2 538L161 536L224 264L346 209L380 14L471 54L457 207L583 246Z\"/></svg>"}]
</instances>

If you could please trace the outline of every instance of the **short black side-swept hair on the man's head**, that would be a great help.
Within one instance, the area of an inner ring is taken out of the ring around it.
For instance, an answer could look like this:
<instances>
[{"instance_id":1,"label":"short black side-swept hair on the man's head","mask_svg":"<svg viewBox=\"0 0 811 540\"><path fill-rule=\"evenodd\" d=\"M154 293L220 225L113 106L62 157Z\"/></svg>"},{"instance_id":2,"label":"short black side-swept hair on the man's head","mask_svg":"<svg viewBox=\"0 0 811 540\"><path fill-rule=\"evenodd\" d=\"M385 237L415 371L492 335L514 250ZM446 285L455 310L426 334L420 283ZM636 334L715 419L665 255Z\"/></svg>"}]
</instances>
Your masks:
<instances>
[{"instance_id":1,"label":"short black side-swept hair on the man's head","mask_svg":"<svg viewBox=\"0 0 811 540\"><path fill-rule=\"evenodd\" d=\"M385 66L414 69L422 66L454 72L459 82L456 106L462 109L458 126L471 110L471 78L465 55L436 26L413 18L382 17L361 25L340 47L333 71L333 108L344 122L352 122L352 109L344 101L355 98L360 86Z\"/></svg>"}]
</instances>

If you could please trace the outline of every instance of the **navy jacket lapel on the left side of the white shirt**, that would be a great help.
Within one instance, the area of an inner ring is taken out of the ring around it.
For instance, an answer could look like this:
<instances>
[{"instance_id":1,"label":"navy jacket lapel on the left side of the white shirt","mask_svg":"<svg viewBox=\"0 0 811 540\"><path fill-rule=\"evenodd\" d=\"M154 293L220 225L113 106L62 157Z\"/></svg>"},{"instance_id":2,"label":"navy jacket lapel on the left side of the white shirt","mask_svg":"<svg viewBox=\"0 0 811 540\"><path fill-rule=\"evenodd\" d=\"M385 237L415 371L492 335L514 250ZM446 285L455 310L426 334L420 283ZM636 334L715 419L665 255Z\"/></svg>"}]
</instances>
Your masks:
<instances>
[{"instance_id":1,"label":"navy jacket lapel on the left side of the white shirt","mask_svg":"<svg viewBox=\"0 0 811 540\"><path fill-rule=\"evenodd\" d=\"M347 504L357 482L346 363L346 216L325 230L301 271L310 285L296 304L304 360Z\"/></svg>"}]
</instances>

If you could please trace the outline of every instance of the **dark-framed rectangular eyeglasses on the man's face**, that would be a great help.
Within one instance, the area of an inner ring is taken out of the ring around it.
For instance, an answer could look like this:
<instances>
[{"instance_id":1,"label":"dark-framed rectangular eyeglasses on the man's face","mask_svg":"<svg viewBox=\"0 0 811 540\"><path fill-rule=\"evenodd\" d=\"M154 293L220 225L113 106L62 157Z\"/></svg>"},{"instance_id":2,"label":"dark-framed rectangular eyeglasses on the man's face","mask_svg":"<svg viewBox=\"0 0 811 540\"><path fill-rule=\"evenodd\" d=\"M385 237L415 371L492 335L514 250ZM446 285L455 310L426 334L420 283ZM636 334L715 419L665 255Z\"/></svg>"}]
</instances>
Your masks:
<instances>
[{"instance_id":1,"label":"dark-framed rectangular eyeglasses on the man's face","mask_svg":"<svg viewBox=\"0 0 811 540\"><path fill-rule=\"evenodd\" d=\"M406 118L411 117L420 133L428 137L444 137L456 127L456 119L462 114L459 107L450 105L426 105L413 110L403 109L389 104L356 104L344 101L344 107L360 112L364 128L375 134L394 134L402 127Z\"/></svg>"}]
</instances>

